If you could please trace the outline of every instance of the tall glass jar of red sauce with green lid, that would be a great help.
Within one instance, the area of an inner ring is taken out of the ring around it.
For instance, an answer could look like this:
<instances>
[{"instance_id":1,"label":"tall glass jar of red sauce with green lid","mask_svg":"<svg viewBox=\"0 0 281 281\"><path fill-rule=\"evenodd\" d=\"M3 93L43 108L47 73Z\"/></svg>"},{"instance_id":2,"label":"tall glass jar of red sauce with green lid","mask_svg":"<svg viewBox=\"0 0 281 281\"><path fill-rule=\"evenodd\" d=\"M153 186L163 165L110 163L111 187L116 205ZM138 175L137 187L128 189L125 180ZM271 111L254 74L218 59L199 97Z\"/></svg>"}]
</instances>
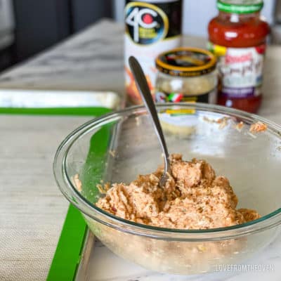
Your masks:
<instances>
[{"instance_id":1,"label":"tall glass jar of red sauce with green lid","mask_svg":"<svg viewBox=\"0 0 281 281\"><path fill-rule=\"evenodd\" d=\"M218 103L248 112L261 105L268 23L261 0L218 0L209 22L208 48L218 58Z\"/></svg>"}]
</instances>

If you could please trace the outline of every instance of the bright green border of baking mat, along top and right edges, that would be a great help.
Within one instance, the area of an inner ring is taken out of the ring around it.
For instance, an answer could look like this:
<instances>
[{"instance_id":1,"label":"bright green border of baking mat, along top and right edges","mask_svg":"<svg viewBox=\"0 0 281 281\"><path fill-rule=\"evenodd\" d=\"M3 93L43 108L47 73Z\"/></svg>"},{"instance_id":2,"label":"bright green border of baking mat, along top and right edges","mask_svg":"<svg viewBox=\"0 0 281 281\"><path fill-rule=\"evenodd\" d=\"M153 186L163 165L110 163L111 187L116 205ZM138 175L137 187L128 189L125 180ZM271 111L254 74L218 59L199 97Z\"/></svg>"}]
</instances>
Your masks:
<instances>
[{"instance_id":1,"label":"bright green border of baking mat, along top and right edges","mask_svg":"<svg viewBox=\"0 0 281 281\"><path fill-rule=\"evenodd\" d=\"M8 115L76 115L98 117L111 111L112 109L107 107L0 107L0 114ZM111 128L105 128L105 130L101 130L96 135L95 139L91 139L91 143L98 141L100 145L90 145L89 155L93 156L94 153L96 157L103 158L110 143L111 132ZM90 164L92 160L89 157L85 165ZM98 172L100 174L103 173L101 166L98 167ZM89 181L89 178L84 178L84 181ZM87 226L83 216L70 204L48 272L47 281L75 280L86 234Z\"/></svg>"}]
</instances>

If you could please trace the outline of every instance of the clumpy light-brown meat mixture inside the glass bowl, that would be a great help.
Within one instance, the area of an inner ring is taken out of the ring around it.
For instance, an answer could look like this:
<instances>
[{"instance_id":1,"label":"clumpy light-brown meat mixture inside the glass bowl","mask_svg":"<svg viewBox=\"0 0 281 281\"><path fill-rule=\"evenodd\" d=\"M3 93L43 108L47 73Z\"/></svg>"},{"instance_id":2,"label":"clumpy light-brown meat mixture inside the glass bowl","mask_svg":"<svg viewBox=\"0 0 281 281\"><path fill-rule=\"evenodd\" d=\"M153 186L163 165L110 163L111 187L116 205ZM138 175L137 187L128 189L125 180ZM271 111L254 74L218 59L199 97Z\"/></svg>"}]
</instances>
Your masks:
<instances>
[{"instance_id":1,"label":"clumpy light-brown meat mixture inside the glass bowl","mask_svg":"<svg viewBox=\"0 0 281 281\"><path fill-rule=\"evenodd\" d=\"M234 226L259 218L250 209L236 209L237 196L228 178L216 176L204 160L183 161L171 155L171 175L164 188L163 173L140 175L129 184L114 183L96 206L115 216L149 226L208 229Z\"/></svg>"}]
</instances>

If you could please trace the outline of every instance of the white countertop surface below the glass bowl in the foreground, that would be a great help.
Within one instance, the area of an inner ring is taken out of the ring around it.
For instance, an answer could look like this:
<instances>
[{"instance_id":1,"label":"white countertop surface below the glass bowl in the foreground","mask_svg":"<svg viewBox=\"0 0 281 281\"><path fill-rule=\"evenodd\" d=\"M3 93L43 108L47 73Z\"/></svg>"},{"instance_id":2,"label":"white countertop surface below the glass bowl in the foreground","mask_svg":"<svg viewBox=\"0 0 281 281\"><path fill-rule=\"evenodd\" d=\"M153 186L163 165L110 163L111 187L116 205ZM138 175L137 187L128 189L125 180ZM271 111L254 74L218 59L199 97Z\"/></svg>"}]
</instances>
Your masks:
<instances>
[{"instance_id":1,"label":"white countertop surface below the glass bowl in the foreground","mask_svg":"<svg viewBox=\"0 0 281 281\"><path fill-rule=\"evenodd\" d=\"M93 237L89 237L93 243ZM86 263L84 265L83 275L77 275L76 281L246 281L246 280L280 280L280 262L273 258L273 253L280 249L281 237L278 236L275 240L262 251L261 255L257 255L243 265L249 266L264 266L270 265L273 270L218 270L215 273L207 273L204 275L169 275L157 273L155 271L146 270L141 266L125 261L119 258L107 249L100 241L95 240L93 246L86 254Z\"/></svg>"}]
</instances>

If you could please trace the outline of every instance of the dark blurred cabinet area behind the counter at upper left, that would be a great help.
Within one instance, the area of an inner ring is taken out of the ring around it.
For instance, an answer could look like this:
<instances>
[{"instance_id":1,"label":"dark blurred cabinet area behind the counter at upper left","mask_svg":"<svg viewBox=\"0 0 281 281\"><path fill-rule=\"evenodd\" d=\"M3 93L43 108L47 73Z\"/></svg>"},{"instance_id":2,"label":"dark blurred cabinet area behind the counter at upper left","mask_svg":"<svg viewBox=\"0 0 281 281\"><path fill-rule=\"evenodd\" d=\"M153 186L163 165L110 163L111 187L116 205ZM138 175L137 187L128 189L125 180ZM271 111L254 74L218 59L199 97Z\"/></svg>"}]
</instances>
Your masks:
<instances>
[{"instance_id":1,"label":"dark blurred cabinet area behind the counter at upper left","mask_svg":"<svg viewBox=\"0 0 281 281\"><path fill-rule=\"evenodd\" d=\"M112 0L13 0L15 41L0 53L0 70L96 22L112 18Z\"/></svg>"}]
</instances>

